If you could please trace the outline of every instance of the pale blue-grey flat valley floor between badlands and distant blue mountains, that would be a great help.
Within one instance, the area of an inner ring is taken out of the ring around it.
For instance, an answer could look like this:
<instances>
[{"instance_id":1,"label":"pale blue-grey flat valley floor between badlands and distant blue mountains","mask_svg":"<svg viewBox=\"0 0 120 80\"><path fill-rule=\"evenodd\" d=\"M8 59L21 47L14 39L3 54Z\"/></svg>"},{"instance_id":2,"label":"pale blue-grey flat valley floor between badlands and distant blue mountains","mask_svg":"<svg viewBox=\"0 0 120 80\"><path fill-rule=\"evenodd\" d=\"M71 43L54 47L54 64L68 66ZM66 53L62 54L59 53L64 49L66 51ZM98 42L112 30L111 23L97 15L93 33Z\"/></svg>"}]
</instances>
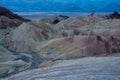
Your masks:
<instances>
[{"instance_id":1,"label":"pale blue-grey flat valley floor between badlands and distant blue mountains","mask_svg":"<svg viewBox=\"0 0 120 80\"><path fill-rule=\"evenodd\" d=\"M65 15L69 17L80 17L80 16L87 16L92 14L93 12L16 12L16 14L21 15L22 17L30 20L39 20L43 18L49 18L49 17L54 17L57 15ZM112 14L113 12L97 12L95 14L98 15L108 15Z\"/></svg>"}]
</instances>

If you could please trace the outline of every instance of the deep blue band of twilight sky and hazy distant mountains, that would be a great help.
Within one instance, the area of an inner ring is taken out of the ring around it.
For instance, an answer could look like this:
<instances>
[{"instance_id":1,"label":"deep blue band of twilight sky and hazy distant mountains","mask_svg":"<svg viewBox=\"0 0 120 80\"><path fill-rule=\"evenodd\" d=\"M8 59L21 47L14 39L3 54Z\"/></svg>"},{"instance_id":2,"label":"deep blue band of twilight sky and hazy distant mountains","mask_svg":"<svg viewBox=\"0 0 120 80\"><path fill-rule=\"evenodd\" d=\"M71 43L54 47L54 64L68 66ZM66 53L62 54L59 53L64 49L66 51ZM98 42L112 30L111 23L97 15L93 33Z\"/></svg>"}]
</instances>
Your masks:
<instances>
[{"instance_id":1,"label":"deep blue band of twilight sky and hazy distant mountains","mask_svg":"<svg viewBox=\"0 0 120 80\"><path fill-rule=\"evenodd\" d=\"M14 12L113 12L120 11L119 0L0 0Z\"/></svg>"}]
</instances>

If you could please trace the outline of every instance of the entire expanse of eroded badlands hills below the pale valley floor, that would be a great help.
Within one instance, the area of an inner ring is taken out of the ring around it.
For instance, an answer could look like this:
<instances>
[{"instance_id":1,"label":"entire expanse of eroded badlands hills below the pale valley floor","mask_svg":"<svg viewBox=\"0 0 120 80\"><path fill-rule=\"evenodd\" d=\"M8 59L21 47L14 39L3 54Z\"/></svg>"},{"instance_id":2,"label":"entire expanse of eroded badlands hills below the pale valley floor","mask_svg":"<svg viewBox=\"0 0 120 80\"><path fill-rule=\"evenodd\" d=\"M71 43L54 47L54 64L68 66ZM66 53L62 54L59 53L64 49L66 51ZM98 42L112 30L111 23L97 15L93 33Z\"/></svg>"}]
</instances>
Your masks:
<instances>
[{"instance_id":1,"label":"entire expanse of eroded badlands hills below the pale valley floor","mask_svg":"<svg viewBox=\"0 0 120 80\"><path fill-rule=\"evenodd\" d=\"M0 9L1 80L120 80L118 12L30 21Z\"/></svg>"}]
</instances>

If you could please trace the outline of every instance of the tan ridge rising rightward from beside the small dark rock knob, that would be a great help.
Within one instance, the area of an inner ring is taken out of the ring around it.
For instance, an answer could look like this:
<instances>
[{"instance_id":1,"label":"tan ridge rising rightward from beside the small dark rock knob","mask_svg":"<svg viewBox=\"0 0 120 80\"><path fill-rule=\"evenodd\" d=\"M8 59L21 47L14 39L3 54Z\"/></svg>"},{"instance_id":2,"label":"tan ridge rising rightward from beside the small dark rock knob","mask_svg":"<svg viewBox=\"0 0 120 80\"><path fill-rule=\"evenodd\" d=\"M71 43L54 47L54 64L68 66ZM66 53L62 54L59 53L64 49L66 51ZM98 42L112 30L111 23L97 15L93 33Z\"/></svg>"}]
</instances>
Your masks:
<instances>
[{"instance_id":1,"label":"tan ridge rising rightward from beside the small dark rock knob","mask_svg":"<svg viewBox=\"0 0 120 80\"><path fill-rule=\"evenodd\" d=\"M68 18L56 24L55 28L56 30L59 30L59 31L70 30L70 29L84 27L87 25L89 26L94 25L95 23L103 20L106 20L104 16L91 14L85 17Z\"/></svg>"}]
</instances>

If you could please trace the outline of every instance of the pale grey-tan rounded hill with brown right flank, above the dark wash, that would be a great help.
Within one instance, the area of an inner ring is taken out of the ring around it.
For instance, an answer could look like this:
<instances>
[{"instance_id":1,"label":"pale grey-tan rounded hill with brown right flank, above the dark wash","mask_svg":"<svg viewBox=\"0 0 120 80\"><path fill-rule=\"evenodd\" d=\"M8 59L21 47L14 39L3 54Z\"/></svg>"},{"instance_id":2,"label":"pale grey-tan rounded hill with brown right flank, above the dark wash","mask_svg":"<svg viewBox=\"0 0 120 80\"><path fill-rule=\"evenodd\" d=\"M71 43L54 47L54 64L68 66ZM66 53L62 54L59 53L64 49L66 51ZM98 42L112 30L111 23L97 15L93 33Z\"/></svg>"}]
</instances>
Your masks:
<instances>
[{"instance_id":1,"label":"pale grey-tan rounded hill with brown right flank, above the dark wash","mask_svg":"<svg viewBox=\"0 0 120 80\"><path fill-rule=\"evenodd\" d=\"M32 51L40 41L49 40L56 31L43 22L23 23L10 34L9 49L15 51Z\"/></svg>"}]
</instances>

